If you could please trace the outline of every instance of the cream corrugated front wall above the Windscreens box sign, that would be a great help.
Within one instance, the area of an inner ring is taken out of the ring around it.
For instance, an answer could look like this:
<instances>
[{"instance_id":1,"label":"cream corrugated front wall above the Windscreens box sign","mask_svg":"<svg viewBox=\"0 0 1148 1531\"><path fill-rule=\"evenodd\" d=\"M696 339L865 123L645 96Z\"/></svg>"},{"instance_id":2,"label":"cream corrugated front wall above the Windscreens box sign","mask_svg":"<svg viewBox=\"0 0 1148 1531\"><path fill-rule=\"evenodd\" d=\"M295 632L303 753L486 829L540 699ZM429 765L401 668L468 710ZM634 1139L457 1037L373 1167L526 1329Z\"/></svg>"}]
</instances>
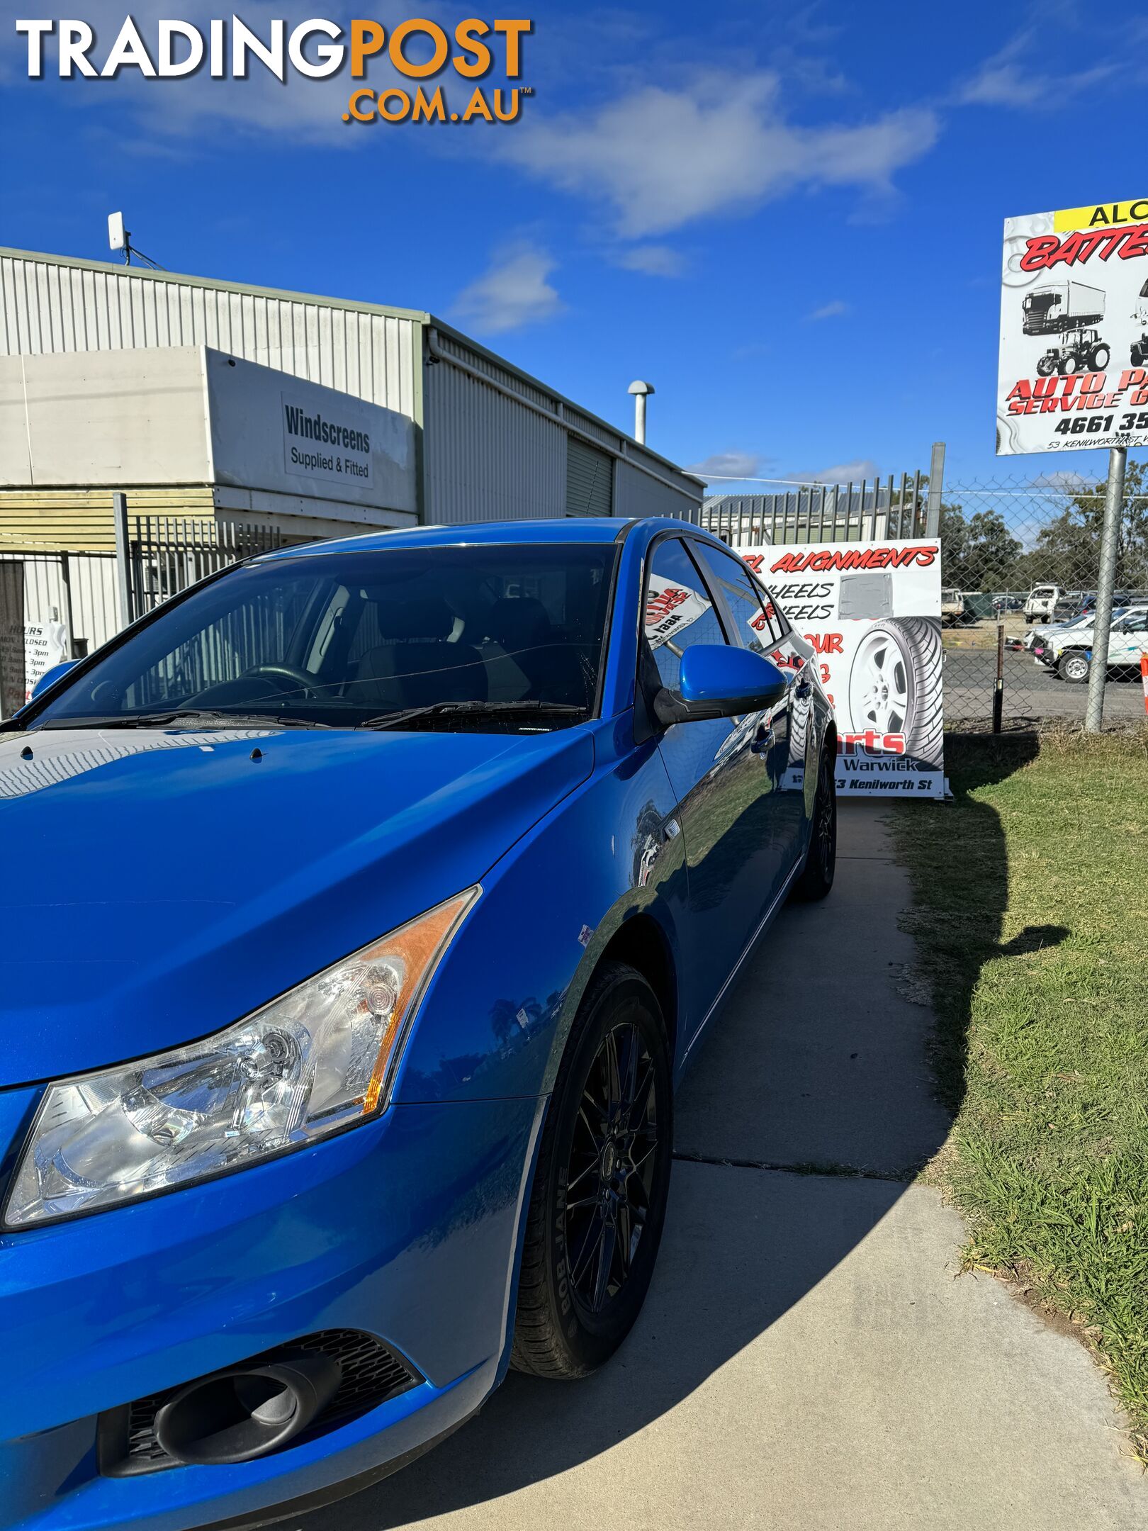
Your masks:
<instances>
[{"instance_id":1,"label":"cream corrugated front wall above the Windscreens box sign","mask_svg":"<svg viewBox=\"0 0 1148 1531\"><path fill-rule=\"evenodd\" d=\"M421 325L386 312L55 260L0 257L0 354L214 346L413 418Z\"/></svg>"}]
</instances>

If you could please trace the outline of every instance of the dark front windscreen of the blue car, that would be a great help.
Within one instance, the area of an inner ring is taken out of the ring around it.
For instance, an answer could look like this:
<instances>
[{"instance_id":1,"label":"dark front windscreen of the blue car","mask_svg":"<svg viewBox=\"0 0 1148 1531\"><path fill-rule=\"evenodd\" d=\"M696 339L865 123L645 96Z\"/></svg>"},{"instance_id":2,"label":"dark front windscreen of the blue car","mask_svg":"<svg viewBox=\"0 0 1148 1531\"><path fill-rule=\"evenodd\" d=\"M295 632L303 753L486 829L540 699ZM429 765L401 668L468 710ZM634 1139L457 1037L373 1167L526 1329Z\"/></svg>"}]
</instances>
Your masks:
<instances>
[{"instance_id":1,"label":"dark front windscreen of the blue car","mask_svg":"<svg viewBox=\"0 0 1148 1531\"><path fill-rule=\"evenodd\" d=\"M256 560L161 608L31 726L577 723L595 706L615 557L478 544Z\"/></svg>"}]
</instances>

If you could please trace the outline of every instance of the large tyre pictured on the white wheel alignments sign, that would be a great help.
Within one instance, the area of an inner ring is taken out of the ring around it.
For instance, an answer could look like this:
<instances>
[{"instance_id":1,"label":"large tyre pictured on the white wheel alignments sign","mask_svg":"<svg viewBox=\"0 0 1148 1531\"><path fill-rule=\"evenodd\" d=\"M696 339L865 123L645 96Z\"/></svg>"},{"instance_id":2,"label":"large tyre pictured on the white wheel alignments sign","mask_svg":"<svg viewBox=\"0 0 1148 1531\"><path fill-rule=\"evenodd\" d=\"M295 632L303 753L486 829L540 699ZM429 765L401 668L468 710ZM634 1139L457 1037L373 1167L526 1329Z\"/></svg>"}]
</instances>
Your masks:
<instances>
[{"instance_id":1,"label":"large tyre pictured on the white wheel alignments sign","mask_svg":"<svg viewBox=\"0 0 1148 1531\"><path fill-rule=\"evenodd\" d=\"M853 729L900 733L905 753L935 766L941 758L941 629L934 617L889 617L857 645L850 671Z\"/></svg>"}]
</instances>

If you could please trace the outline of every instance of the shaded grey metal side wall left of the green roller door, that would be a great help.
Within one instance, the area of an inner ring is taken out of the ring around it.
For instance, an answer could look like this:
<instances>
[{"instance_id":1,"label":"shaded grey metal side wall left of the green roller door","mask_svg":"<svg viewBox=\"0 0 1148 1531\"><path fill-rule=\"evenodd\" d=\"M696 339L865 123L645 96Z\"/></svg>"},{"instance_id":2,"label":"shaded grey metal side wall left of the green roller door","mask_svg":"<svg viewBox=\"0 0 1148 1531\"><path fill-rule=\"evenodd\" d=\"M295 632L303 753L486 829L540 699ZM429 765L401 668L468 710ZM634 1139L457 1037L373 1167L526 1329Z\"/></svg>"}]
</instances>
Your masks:
<instances>
[{"instance_id":1,"label":"shaded grey metal side wall left of the green roller door","mask_svg":"<svg viewBox=\"0 0 1148 1531\"><path fill-rule=\"evenodd\" d=\"M471 355L465 354L468 363ZM481 360L475 357L475 364ZM497 381L504 383L504 377ZM557 419L508 398L450 361L427 364L424 386L429 522L566 514L566 432Z\"/></svg>"}]
</instances>

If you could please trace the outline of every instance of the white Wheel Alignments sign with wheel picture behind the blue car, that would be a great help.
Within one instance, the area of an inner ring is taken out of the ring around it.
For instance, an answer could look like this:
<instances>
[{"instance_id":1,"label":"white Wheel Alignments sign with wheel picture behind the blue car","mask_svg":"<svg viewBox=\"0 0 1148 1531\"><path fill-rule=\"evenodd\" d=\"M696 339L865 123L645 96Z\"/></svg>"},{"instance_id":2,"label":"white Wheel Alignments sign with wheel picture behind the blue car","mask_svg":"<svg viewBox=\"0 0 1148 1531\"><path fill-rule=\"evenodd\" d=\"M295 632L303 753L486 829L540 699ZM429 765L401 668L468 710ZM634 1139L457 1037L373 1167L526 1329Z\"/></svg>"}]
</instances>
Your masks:
<instances>
[{"instance_id":1,"label":"white Wheel Alignments sign with wheel picture behind the blue car","mask_svg":"<svg viewBox=\"0 0 1148 1531\"><path fill-rule=\"evenodd\" d=\"M837 718L837 792L943 798L940 542L804 542L742 557L814 649Z\"/></svg>"}]
</instances>

